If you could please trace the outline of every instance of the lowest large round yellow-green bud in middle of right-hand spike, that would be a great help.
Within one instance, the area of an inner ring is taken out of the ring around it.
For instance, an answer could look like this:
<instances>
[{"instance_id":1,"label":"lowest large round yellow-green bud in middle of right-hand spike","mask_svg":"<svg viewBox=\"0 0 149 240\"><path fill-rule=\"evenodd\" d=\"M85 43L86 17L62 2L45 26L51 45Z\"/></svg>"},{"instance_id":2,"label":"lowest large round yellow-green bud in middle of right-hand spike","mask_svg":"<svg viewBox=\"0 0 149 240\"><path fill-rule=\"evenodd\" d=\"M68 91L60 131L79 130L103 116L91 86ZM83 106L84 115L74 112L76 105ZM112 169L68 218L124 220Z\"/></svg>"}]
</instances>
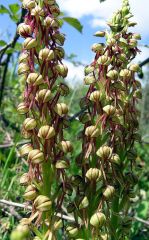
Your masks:
<instances>
[{"instance_id":1,"label":"lowest large round yellow-green bud in middle of right-hand spike","mask_svg":"<svg viewBox=\"0 0 149 240\"><path fill-rule=\"evenodd\" d=\"M103 226L105 222L106 222L106 217L101 212L95 213L90 219L90 224L96 228Z\"/></svg>"}]
</instances>

